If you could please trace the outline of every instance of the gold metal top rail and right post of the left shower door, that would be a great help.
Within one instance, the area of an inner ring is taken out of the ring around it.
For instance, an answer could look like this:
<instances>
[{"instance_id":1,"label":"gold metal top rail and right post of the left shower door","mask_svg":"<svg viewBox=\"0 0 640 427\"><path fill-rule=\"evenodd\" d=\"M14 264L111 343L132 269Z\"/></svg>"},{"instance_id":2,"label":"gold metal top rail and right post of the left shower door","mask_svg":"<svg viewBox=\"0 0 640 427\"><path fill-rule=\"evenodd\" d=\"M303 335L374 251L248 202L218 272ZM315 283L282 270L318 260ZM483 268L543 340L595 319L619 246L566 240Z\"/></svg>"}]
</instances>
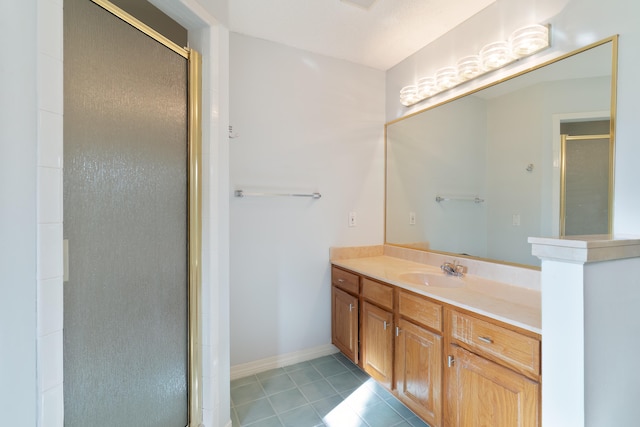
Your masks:
<instances>
[{"instance_id":1,"label":"gold metal top rail and right post of the left shower door","mask_svg":"<svg viewBox=\"0 0 640 427\"><path fill-rule=\"evenodd\" d=\"M188 425L202 424L202 57L183 48L107 0L91 0L186 58L188 77Z\"/></svg>"}]
</instances>

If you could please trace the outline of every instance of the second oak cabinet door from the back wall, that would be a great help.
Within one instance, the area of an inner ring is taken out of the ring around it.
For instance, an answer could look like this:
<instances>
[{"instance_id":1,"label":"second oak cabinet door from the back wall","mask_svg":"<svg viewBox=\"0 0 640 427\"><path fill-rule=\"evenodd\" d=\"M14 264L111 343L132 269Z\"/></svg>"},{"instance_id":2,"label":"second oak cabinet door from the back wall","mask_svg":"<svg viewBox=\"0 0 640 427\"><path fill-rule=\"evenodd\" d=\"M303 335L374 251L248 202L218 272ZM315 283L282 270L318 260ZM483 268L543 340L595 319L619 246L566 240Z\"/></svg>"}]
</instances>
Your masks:
<instances>
[{"instance_id":1,"label":"second oak cabinet door from the back wall","mask_svg":"<svg viewBox=\"0 0 640 427\"><path fill-rule=\"evenodd\" d=\"M391 389L393 380L393 314L365 302L362 304L362 367Z\"/></svg>"}]
</instances>

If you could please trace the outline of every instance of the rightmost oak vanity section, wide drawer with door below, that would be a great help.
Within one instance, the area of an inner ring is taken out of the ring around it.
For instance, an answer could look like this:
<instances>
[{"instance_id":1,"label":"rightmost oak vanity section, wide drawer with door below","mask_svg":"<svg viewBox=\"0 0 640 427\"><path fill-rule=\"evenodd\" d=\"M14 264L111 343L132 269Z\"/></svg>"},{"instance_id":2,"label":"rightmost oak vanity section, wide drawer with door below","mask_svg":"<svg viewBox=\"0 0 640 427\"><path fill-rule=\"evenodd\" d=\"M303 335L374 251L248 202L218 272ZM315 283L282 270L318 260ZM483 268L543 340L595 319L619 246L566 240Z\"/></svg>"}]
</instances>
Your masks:
<instances>
[{"instance_id":1,"label":"rightmost oak vanity section, wide drawer with door below","mask_svg":"<svg viewBox=\"0 0 640 427\"><path fill-rule=\"evenodd\" d=\"M539 427L540 341L449 311L447 427Z\"/></svg>"}]
</instances>

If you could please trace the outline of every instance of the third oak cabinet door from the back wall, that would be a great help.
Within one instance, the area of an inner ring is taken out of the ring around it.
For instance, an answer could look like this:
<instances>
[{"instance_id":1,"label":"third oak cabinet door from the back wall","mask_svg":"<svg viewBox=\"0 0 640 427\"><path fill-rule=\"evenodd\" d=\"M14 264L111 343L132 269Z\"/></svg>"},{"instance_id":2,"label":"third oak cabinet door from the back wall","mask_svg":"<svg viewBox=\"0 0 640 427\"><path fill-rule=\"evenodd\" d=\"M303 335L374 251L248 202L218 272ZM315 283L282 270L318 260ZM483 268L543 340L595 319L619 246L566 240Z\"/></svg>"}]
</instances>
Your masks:
<instances>
[{"instance_id":1,"label":"third oak cabinet door from the back wall","mask_svg":"<svg viewBox=\"0 0 640 427\"><path fill-rule=\"evenodd\" d=\"M442 423L442 337L404 319L395 354L398 397L429 424Z\"/></svg>"}]
</instances>

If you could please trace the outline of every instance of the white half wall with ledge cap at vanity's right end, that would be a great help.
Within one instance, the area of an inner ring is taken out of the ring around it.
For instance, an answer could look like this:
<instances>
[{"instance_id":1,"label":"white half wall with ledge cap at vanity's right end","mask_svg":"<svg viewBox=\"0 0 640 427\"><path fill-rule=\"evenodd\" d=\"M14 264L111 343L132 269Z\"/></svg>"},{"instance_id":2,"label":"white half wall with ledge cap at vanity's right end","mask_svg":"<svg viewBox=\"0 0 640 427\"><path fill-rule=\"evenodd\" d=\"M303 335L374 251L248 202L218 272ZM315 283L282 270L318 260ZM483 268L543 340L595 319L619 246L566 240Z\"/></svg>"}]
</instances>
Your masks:
<instances>
[{"instance_id":1,"label":"white half wall with ledge cap at vanity's right end","mask_svg":"<svg viewBox=\"0 0 640 427\"><path fill-rule=\"evenodd\" d=\"M542 425L636 425L637 239L533 240L542 259Z\"/></svg>"}]
</instances>

